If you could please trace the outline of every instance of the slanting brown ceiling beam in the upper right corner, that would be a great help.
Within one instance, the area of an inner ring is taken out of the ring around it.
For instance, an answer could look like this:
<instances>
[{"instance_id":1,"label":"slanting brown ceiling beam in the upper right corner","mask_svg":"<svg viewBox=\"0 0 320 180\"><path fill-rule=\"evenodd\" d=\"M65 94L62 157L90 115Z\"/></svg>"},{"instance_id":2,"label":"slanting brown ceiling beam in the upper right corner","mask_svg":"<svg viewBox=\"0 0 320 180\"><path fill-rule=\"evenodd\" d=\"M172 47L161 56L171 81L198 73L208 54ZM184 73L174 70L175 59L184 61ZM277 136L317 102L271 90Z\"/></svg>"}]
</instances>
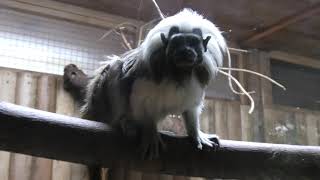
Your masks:
<instances>
[{"instance_id":1,"label":"slanting brown ceiling beam in the upper right corner","mask_svg":"<svg viewBox=\"0 0 320 180\"><path fill-rule=\"evenodd\" d=\"M271 34L278 32L289 25L311 17L314 14L320 13L320 3L314 3L312 6L307 7L301 11L298 11L290 16L284 17L274 24L266 27L262 32L252 34L248 39L241 42L241 45L248 45L252 42L258 41L262 38L270 36Z\"/></svg>"}]
</instances>

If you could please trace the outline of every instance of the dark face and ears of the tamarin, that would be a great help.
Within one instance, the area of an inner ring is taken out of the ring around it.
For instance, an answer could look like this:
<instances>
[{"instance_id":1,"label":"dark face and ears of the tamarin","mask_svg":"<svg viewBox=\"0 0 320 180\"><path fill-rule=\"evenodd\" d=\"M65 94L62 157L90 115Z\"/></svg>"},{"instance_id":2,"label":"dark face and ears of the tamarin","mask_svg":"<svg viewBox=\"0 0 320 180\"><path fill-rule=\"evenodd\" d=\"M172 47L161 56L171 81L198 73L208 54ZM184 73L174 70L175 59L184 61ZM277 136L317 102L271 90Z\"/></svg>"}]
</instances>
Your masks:
<instances>
[{"instance_id":1,"label":"dark face and ears of the tamarin","mask_svg":"<svg viewBox=\"0 0 320 180\"><path fill-rule=\"evenodd\" d=\"M200 29L193 29L192 33L180 33L179 28L173 26L167 38L161 34L161 40L170 64L179 69L192 69L201 64L210 36L203 39Z\"/></svg>"}]
</instances>

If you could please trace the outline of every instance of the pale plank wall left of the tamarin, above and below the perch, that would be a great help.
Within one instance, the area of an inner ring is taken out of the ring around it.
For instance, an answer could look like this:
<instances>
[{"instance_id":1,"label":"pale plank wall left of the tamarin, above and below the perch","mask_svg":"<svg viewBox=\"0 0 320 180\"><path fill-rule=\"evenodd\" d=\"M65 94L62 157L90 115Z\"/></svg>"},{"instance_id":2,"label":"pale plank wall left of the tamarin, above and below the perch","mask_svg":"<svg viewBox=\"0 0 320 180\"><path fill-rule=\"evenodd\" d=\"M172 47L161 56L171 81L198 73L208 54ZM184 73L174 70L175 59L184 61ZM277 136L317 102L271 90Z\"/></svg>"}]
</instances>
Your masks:
<instances>
[{"instance_id":1,"label":"pale plank wall left of the tamarin, above and below the perch","mask_svg":"<svg viewBox=\"0 0 320 180\"><path fill-rule=\"evenodd\" d=\"M0 100L70 116L75 106L55 76L0 69ZM17 129L19 131L19 129ZM1 180L89 180L85 166L0 152Z\"/></svg>"}]
</instances>

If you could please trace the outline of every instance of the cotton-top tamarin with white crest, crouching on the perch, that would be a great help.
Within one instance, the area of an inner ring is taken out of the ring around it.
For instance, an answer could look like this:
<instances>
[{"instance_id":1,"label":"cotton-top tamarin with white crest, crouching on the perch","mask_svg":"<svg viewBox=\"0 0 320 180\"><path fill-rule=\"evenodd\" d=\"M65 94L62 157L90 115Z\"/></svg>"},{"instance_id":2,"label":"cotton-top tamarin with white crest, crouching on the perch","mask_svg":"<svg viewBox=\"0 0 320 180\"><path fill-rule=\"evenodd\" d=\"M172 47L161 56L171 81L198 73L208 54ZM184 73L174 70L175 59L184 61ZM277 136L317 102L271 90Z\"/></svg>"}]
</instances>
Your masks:
<instances>
[{"instance_id":1,"label":"cotton-top tamarin with white crest, crouching on the perch","mask_svg":"<svg viewBox=\"0 0 320 180\"><path fill-rule=\"evenodd\" d=\"M83 117L126 133L140 133L142 154L155 157L161 145L157 123L181 114L196 147L217 146L200 131L205 90L223 63L227 45L209 20L190 9L161 20L143 43L113 56L89 81Z\"/></svg>"}]
</instances>

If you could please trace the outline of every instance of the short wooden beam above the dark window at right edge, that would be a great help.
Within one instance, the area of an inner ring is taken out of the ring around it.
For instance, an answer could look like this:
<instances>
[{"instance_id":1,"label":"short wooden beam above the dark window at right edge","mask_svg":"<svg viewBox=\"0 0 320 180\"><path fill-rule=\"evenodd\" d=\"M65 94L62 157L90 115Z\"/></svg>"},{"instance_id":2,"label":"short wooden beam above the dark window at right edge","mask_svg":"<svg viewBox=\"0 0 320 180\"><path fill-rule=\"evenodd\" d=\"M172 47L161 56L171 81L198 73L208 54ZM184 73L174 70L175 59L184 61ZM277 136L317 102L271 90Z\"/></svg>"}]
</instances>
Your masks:
<instances>
[{"instance_id":1,"label":"short wooden beam above the dark window at right edge","mask_svg":"<svg viewBox=\"0 0 320 180\"><path fill-rule=\"evenodd\" d=\"M281 51L271 51L270 58L292 64L303 65L311 68L320 69L320 59L313 59L304 56L289 54Z\"/></svg>"}]
</instances>

